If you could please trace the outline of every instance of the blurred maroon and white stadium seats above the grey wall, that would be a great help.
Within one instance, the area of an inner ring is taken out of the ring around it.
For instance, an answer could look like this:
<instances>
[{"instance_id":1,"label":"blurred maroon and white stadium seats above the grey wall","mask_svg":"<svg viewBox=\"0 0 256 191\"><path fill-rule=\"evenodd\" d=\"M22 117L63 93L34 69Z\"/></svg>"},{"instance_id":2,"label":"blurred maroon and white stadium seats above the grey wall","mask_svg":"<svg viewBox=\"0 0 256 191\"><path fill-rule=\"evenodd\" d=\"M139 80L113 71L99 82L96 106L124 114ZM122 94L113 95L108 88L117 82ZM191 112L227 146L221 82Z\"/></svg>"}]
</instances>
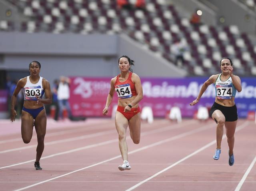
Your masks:
<instances>
[{"instance_id":1,"label":"blurred maroon and white stadium seats above the grey wall","mask_svg":"<svg viewBox=\"0 0 256 191\"><path fill-rule=\"evenodd\" d=\"M251 0L254 2L253 0ZM236 74L256 75L256 45L237 26L194 26L164 0L146 1L145 10L118 8L115 0L9 0L29 21L0 21L0 30L22 32L74 32L79 34L126 33L148 48L175 61L170 47L177 39L186 42L185 70L191 76L219 72L222 57L234 60ZM130 0L133 4L136 1ZM246 1L247 2L247 1ZM250 2L251 3L251 2ZM255 2L254 2L255 3ZM252 4L252 3L251 3Z\"/></svg>"}]
</instances>

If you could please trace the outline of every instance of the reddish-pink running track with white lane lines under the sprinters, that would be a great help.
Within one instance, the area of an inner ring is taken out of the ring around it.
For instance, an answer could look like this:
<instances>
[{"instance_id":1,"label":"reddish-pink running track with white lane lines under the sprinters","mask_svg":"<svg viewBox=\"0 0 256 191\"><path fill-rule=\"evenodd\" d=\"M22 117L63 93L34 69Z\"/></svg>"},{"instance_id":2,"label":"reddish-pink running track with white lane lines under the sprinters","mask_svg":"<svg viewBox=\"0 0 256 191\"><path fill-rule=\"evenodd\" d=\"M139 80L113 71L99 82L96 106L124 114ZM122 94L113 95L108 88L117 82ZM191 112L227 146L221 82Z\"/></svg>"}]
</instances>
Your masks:
<instances>
[{"instance_id":1,"label":"reddish-pink running track with white lane lines under the sprinters","mask_svg":"<svg viewBox=\"0 0 256 191\"><path fill-rule=\"evenodd\" d=\"M111 119L82 122L48 120L42 171L34 169L35 133L29 144L20 136L20 121L0 121L0 190L86 191L255 191L256 124L238 120L234 166L228 165L226 136L220 159L215 123L157 119L142 123L141 142L127 137L130 171L122 163Z\"/></svg>"}]
</instances>

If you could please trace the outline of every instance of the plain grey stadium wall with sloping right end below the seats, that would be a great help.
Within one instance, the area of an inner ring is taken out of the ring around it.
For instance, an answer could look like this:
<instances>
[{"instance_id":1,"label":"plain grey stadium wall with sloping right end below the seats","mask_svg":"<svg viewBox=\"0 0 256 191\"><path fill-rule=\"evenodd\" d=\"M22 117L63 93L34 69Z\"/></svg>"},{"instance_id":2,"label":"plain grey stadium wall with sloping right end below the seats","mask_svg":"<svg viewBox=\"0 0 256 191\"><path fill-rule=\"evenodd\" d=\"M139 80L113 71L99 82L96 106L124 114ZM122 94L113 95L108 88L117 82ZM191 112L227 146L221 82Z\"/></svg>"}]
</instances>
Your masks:
<instances>
[{"instance_id":1,"label":"plain grey stadium wall with sloping right end below the seats","mask_svg":"<svg viewBox=\"0 0 256 191\"><path fill-rule=\"evenodd\" d=\"M126 35L0 32L0 39L0 70L28 70L37 60L40 74L50 83L59 76L116 76L122 55L136 61L134 72L141 76L186 76L186 71Z\"/></svg>"}]
</instances>

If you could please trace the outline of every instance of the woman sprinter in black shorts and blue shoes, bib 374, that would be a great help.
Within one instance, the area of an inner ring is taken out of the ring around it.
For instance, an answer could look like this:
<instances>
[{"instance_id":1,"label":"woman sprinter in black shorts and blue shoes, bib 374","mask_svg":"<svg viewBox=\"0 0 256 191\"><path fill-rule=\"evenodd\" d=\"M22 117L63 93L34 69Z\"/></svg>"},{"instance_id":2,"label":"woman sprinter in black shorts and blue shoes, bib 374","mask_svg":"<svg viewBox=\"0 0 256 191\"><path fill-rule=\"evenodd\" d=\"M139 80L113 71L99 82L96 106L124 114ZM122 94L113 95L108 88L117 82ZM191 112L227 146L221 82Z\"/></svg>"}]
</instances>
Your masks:
<instances>
[{"instance_id":1,"label":"woman sprinter in black shorts and blue shoes, bib 374","mask_svg":"<svg viewBox=\"0 0 256 191\"><path fill-rule=\"evenodd\" d=\"M241 80L238 76L233 74L233 64L230 58L222 58L220 61L221 74L212 75L206 82L204 82L198 97L190 103L195 105L204 94L205 90L210 84L215 84L216 97L212 105L210 115L217 123L216 128L216 142L217 148L213 156L214 160L220 158L221 141L223 135L223 126L226 127L226 135L228 139L228 164L234 164L234 134L236 130L236 122L238 119L237 109L235 104L236 91L241 92Z\"/></svg>"}]
</instances>

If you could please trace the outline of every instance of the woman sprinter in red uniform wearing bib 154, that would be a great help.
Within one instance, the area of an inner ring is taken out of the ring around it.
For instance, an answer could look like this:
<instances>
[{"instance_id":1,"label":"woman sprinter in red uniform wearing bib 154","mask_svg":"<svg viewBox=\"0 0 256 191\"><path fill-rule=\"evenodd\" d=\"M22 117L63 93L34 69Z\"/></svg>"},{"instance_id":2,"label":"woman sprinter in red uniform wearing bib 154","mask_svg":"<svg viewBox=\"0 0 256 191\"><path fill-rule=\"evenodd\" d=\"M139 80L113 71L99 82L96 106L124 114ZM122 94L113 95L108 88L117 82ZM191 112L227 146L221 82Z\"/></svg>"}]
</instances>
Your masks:
<instances>
[{"instance_id":1,"label":"woman sprinter in red uniform wearing bib 154","mask_svg":"<svg viewBox=\"0 0 256 191\"><path fill-rule=\"evenodd\" d=\"M140 77L130 69L134 61L128 56L121 56L118 59L121 74L110 81L110 92L107 97L106 107L103 115L108 113L108 107L112 101L114 91L118 96L118 107L116 111L115 123L118 132L119 148L121 151L123 164L118 166L120 171L130 170L128 162L128 147L126 143L126 129L129 125L130 136L135 144L140 142L140 107L139 102L143 97Z\"/></svg>"}]
</instances>

